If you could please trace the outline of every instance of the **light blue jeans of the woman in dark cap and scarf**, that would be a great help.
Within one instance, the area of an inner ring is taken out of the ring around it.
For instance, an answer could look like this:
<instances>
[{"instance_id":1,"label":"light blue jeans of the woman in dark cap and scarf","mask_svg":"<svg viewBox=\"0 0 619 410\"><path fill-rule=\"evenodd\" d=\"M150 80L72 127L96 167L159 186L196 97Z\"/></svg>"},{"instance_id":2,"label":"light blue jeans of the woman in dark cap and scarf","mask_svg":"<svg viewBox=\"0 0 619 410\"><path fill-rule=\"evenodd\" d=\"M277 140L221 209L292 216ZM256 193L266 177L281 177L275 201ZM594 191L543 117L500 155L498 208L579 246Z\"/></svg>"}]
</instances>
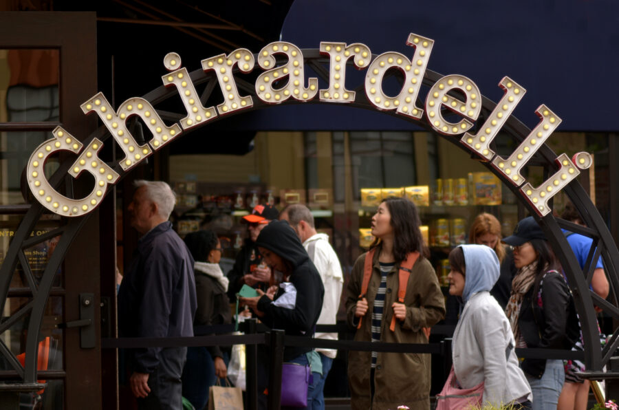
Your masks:
<instances>
[{"instance_id":1,"label":"light blue jeans of the woman in dark cap and scarf","mask_svg":"<svg viewBox=\"0 0 619 410\"><path fill-rule=\"evenodd\" d=\"M546 368L541 378L528 374L526 376L533 393L532 410L555 410L565 381L563 360L546 360Z\"/></svg>"}]
</instances>

